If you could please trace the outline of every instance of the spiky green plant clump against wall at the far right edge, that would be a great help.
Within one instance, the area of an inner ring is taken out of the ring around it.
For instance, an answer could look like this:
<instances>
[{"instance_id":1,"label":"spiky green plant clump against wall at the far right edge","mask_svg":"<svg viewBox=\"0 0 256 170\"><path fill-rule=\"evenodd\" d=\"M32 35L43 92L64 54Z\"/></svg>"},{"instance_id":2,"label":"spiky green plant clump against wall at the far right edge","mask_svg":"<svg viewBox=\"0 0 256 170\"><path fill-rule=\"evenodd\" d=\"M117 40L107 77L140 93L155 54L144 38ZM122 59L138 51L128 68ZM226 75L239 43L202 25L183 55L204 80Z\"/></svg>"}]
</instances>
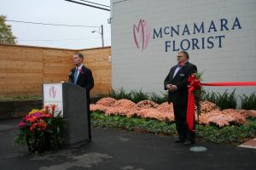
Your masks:
<instances>
[{"instance_id":1,"label":"spiky green plant clump against wall at the far right edge","mask_svg":"<svg viewBox=\"0 0 256 170\"><path fill-rule=\"evenodd\" d=\"M256 94L253 93L250 96L243 94L240 96L241 99L241 109L245 110L256 110Z\"/></svg>"}]
</instances>

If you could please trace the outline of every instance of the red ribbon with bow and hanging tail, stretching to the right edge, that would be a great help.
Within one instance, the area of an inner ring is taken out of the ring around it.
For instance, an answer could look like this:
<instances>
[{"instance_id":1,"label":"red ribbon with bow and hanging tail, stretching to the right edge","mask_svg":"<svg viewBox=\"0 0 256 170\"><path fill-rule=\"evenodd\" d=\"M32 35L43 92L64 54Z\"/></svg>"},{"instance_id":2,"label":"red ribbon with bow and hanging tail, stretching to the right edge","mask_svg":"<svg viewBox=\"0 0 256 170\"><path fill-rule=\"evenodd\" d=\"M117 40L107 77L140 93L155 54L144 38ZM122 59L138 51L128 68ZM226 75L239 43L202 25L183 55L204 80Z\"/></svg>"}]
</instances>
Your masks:
<instances>
[{"instance_id":1,"label":"red ribbon with bow and hanging tail, stretching to the right edge","mask_svg":"<svg viewBox=\"0 0 256 170\"><path fill-rule=\"evenodd\" d=\"M189 94L188 94L188 109L187 109L187 124L190 131L194 131L195 122L195 95L196 89L201 86L256 86L256 82L212 82L201 83L198 78L192 74L189 79Z\"/></svg>"}]
</instances>

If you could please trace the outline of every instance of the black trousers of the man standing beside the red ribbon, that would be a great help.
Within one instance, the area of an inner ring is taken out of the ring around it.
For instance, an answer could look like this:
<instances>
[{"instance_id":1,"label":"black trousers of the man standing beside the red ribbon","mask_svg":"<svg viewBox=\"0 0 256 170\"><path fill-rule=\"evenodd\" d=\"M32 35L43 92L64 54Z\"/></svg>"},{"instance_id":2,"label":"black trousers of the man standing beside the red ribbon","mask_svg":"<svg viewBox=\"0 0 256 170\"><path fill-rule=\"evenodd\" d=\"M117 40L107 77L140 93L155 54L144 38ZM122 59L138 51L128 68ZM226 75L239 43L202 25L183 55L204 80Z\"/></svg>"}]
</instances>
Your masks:
<instances>
[{"instance_id":1,"label":"black trousers of the man standing beside the red ribbon","mask_svg":"<svg viewBox=\"0 0 256 170\"><path fill-rule=\"evenodd\" d=\"M187 105L173 105L177 135L181 140L195 141L195 132L189 131L187 125L187 108Z\"/></svg>"}]
</instances>

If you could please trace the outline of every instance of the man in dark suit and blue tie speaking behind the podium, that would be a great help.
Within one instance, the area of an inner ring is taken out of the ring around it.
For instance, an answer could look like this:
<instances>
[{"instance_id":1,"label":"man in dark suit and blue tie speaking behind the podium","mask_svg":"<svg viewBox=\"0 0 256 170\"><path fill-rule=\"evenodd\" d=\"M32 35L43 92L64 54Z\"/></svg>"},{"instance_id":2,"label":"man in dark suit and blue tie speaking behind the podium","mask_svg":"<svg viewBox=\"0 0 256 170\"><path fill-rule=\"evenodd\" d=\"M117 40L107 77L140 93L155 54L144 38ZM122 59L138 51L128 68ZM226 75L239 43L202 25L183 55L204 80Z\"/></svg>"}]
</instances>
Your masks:
<instances>
[{"instance_id":1,"label":"man in dark suit and blue tie speaking behind the podium","mask_svg":"<svg viewBox=\"0 0 256 170\"><path fill-rule=\"evenodd\" d=\"M73 65L74 67L69 72L69 80L68 82L73 82L85 88L87 95L87 110L88 110L88 126L89 126L89 139L91 140L91 132L90 132L90 90L94 86L94 80L92 77L92 73L89 68L83 65L84 55L77 53L73 54Z\"/></svg>"}]
</instances>

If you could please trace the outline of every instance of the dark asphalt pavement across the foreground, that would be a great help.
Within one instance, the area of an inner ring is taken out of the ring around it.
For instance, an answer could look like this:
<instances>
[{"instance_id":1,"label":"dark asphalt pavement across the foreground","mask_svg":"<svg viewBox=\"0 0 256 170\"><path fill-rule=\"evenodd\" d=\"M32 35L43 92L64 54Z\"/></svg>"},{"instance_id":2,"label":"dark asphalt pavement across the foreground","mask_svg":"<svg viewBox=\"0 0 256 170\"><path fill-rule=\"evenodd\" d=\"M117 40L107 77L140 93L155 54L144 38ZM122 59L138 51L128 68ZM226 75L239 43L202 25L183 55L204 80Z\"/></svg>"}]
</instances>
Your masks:
<instances>
[{"instance_id":1,"label":"dark asphalt pavement across the foreground","mask_svg":"<svg viewBox=\"0 0 256 170\"><path fill-rule=\"evenodd\" d=\"M19 120L0 120L1 170L201 170L256 169L256 150L197 141L205 152L150 133L92 128L89 144L48 154L30 154L13 142Z\"/></svg>"}]
</instances>

